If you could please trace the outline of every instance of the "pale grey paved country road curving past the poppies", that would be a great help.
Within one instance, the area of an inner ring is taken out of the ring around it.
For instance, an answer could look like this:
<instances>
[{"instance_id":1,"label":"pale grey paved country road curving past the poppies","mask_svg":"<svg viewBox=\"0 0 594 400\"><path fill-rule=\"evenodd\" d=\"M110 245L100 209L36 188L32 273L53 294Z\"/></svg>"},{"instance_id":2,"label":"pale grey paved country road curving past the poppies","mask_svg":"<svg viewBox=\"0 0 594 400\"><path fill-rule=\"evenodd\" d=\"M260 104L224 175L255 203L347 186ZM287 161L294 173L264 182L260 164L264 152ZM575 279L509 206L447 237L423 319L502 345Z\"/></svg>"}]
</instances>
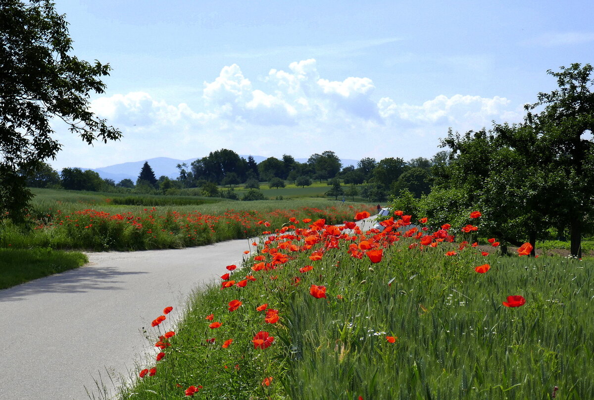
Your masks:
<instances>
[{"instance_id":1,"label":"pale grey paved country road curving past the poppies","mask_svg":"<svg viewBox=\"0 0 594 400\"><path fill-rule=\"evenodd\" d=\"M84 400L86 388L99 399L100 376L113 393L109 375L134 372L150 347L142 327L151 332L169 305L176 320L192 290L239 265L252 241L89 253L83 267L0 290L0 400Z\"/></svg>"}]
</instances>

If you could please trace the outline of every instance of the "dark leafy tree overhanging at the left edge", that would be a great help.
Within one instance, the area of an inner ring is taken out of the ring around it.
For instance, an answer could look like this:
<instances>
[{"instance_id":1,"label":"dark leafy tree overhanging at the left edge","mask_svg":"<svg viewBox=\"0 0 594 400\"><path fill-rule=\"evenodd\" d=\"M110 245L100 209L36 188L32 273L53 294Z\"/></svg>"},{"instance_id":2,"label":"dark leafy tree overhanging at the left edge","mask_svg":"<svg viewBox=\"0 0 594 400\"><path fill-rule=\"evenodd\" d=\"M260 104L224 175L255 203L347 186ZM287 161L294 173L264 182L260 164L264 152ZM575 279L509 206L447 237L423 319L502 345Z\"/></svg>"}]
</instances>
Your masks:
<instances>
[{"instance_id":1,"label":"dark leafy tree overhanging at the left edge","mask_svg":"<svg viewBox=\"0 0 594 400\"><path fill-rule=\"evenodd\" d=\"M109 64L69 54L67 22L52 2L5 0L0 21L0 216L18 220L32 197L28 171L61 149L52 117L88 144L122 135L89 111L89 93L104 92L99 78L109 75Z\"/></svg>"}]
</instances>

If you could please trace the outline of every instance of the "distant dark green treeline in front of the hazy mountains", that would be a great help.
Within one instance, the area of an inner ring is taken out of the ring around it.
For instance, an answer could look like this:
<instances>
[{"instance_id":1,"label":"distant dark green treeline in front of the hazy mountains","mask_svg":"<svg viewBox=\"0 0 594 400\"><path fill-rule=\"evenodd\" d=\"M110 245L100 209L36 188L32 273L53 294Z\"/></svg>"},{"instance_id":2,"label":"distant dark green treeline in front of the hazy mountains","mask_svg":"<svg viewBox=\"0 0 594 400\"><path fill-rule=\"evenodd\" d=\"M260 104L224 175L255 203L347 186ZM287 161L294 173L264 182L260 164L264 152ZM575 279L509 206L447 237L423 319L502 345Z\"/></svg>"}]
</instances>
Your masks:
<instances>
[{"instance_id":1,"label":"distant dark green treeline in front of the hazy mountains","mask_svg":"<svg viewBox=\"0 0 594 400\"><path fill-rule=\"evenodd\" d=\"M238 199L233 187L242 185L250 189L244 200L258 200L264 199L258 191L261 182L267 182L271 188L280 188L287 182L305 187L312 181L326 181L331 186L326 192L329 197L354 199L361 196L369 201L386 201L390 194L403 189L416 197L428 194L433 181L432 171L447 161L448 153L439 152L431 159L421 157L406 162L402 158L379 161L364 158L357 165L343 166L334 152L326 151L311 155L304 163L290 155L283 155L281 159L269 157L256 163L252 156L245 159L233 150L221 149L190 165L179 164L176 179L165 176L157 179L148 162L144 163L135 182L132 179L119 182L102 179L97 172L80 168L64 168L58 174L48 164L40 163L36 171L29 174L28 182L30 187L229 199Z\"/></svg>"}]
</instances>

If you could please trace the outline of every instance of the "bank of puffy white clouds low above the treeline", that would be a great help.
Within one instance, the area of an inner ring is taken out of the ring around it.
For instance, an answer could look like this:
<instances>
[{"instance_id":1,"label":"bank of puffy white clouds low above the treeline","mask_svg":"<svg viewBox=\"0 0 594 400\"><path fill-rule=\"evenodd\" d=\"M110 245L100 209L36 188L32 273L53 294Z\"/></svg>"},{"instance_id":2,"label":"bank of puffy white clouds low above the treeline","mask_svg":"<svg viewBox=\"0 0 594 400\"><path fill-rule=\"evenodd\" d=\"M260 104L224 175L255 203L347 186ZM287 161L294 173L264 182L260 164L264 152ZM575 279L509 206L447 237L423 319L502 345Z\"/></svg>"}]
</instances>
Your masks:
<instances>
[{"instance_id":1,"label":"bank of puffy white clouds low above the treeline","mask_svg":"<svg viewBox=\"0 0 594 400\"><path fill-rule=\"evenodd\" d=\"M441 95L408 104L374 99L381 89L368 77L320 77L315 59L292 62L286 71L271 69L262 81L250 80L233 64L204 83L201 105L194 108L145 92L93 100L93 111L122 130L122 141L69 152L76 138L64 137L68 146L56 166L94 168L159 156L189 159L223 147L298 158L324 150L352 159L431 157L448 127L476 130L492 120L522 118L521 106L505 97Z\"/></svg>"}]
</instances>

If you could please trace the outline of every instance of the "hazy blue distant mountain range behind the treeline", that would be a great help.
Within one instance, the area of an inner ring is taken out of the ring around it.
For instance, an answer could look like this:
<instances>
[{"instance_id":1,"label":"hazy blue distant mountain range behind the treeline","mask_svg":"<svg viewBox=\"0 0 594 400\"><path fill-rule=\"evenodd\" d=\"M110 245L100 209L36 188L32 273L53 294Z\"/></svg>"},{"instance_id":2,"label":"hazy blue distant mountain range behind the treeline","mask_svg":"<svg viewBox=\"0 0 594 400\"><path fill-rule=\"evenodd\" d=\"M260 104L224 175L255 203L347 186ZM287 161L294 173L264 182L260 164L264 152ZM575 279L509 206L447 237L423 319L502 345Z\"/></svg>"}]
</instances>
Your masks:
<instances>
[{"instance_id":1,"label":"hazy blue distant mountain range behind the treeline","mask_svg":"<svg viewBox=\"0 0 594 400\"><path fill-rule=\"evenodd\" d=\"M239 155L240 157L248 159L246 155ZM263 156L252 156L255 162L260 163L267 159L267 157ZM151 168L153 168L154 175L159 178L162 175L165 175L169 178L177 178L179 175L179 170L176 168L176 165L187 163L188 166L191 164L192 161L197 160L198 158L191 158L187 160L177 160L168 157L157 157L157 158L150 158L146 160L134 161L134 162L124 162L121 164L103 166L101 168L81 168L84 170L91 169L91 171L95 171L99 174L100 177L103 179L113 179L116 183L121 181L122 179L132 179L132 181L136 181L138 178L138 174L140 174L140 169L143 168L144 162L148 162ZM298 162L307 162L307 158L297 158L295 161ZM342 166L349 166L354 165L357 166L358 160L350 160L350 159L340 159L342 162Z\"/></svg>"}]
</instances>

